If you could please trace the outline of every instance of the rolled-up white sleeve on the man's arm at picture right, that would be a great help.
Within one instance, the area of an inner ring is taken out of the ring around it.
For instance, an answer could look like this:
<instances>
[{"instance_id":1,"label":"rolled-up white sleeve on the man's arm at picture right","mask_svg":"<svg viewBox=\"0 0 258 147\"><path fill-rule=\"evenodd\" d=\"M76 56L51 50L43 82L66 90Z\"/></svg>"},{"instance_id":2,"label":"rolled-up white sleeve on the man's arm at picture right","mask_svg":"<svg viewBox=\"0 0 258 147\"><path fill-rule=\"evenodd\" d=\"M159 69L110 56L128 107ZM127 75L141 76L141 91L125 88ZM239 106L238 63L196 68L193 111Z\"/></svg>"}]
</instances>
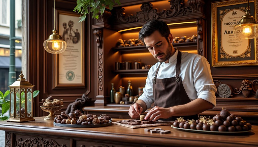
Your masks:
<instances>
[{"instance_id":1,"label":"rolled-up white sleeve on the man's arm at picture right","mask_svg":"<svg viewBox=\"0 0 258 147\"><path fill-rule=\"evenodd\" d=\"M216 106L215 92L217 89L212 79L210 65L204 57L199 57L196 61L192 75L195 90L197 91L197 98L212 103L214 108Z\"/></svg>"}]
</instances>

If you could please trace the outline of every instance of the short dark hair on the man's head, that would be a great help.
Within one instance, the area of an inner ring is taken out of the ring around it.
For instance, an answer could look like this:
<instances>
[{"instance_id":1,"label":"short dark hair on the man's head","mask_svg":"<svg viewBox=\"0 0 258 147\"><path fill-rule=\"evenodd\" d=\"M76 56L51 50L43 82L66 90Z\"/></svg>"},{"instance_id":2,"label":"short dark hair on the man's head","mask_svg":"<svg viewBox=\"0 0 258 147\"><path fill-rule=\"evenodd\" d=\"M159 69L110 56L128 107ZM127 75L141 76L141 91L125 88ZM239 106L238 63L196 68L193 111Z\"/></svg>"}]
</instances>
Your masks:
<instances>
[{"instance_id":1,"label":"short dark hair on the man's head","mask_svg":"<svg viewBox=\"0 0 258 147\"><path fill-rule=\"evenodd\" d=\"M144 42L143 38L149 37L156 30L158 30L161 36L165 37L167 42L169 43L167 37L170 34L170 29L168 28L166 22L163 20L150 20L146 22L142 26L141 31L139 32L139 39L142 40L142 42Z\"/></svg>"}]
</instances>

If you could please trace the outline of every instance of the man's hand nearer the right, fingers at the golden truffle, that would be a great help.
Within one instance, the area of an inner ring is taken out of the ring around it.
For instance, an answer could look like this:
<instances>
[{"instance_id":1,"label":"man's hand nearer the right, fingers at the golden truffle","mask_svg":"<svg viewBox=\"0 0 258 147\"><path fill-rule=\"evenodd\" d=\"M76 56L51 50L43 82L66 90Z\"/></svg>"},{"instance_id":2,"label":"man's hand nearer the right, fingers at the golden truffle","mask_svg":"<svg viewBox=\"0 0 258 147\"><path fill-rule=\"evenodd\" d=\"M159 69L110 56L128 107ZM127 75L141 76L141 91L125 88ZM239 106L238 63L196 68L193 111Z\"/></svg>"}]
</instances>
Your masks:
<instances>
[{"instance_id":1,"label":"man's hand nearer the right, fingers at the golden truffle","mask_svg":"<svg viewBox=\"0 0 258 147\"><path fill-rule=\"evenodd\" d=\"M159 118L169 118L172 116L171 108L163 108L155 106L146 115L146 119L153 120L154 122Z\"/></svg>"}]
</instances>

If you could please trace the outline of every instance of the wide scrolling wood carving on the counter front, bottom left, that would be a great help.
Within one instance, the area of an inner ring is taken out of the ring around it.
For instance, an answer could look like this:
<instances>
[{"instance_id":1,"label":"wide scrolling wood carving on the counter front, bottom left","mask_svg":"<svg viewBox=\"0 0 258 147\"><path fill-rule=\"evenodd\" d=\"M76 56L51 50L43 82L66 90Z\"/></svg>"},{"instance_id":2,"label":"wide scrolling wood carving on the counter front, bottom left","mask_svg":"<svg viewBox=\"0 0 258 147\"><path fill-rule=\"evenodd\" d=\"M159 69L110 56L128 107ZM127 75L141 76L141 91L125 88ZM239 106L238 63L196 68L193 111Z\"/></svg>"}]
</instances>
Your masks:
<instances>
[{"instance_id":1,"label":"wide scrolling wood carving on the counter front, bottom left","mask_svg":"<svg viewBox=\"0 0 258 147\"><path fill-rule=\"evenodd\" d=\"M43 138L29 138L24 141L22 141L21 138L19 138L15 142L15 146L17 147L27 147L27 146L33 146L33 147L66 147L66 144L59 145L56 141L52 139L43 139Z\"/></svg>"}]
</instances>

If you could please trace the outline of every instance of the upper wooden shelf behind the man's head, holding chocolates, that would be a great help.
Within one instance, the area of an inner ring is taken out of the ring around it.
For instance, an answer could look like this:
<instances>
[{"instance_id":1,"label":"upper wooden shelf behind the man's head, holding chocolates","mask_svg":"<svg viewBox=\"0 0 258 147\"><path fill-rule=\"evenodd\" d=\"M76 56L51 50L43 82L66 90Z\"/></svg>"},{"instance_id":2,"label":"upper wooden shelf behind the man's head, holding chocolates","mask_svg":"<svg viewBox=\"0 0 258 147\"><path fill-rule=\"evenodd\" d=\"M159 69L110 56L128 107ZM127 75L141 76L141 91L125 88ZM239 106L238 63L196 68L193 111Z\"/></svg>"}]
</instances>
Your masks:
<instances>
[{"instance_id":1,"label":"upper wooden shelf behind the man's head, holding chocolates","mask_svg":"<svg viewBox=\"0 0 258 147\"><path fill-rule=\"evenodd\" d=\"M183 42L183 43L172 43L173 47L197 47L197 42ZM115 47L113 48L115 51L120 52L142 52L146 51L149 52L149 50L146 48L146 46L130 46L130 47Z\"/></svg>"}]
</instances>

